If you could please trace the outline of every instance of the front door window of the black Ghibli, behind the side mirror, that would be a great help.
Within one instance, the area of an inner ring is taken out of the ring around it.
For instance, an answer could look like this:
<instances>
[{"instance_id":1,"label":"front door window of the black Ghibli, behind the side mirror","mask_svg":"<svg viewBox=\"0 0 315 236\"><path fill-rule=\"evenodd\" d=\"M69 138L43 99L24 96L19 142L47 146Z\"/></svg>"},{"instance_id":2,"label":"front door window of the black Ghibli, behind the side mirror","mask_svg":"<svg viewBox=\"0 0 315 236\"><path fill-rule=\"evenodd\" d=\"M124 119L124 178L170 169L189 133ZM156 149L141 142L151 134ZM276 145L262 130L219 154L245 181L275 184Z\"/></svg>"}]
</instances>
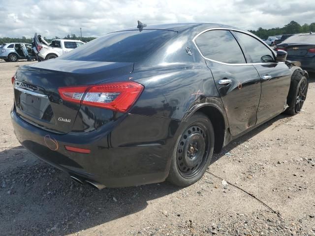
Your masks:
<instances>
[{"instance_id":1,"label":"front door window of the black Ghibli, behind the side mirror","mask_svg":"<svg viewBox=\"0 0 315 236\"><path fill-rule=\"evenodd\" d=\"M252 63L265 63L274 61L274 55L272 54L271 50L269 50L269 48L262 42L245 33L237 31L234 31L234 33L241 41L241 45L245 48L246 54L252 59Z\"/></svg>"}]
</instances>

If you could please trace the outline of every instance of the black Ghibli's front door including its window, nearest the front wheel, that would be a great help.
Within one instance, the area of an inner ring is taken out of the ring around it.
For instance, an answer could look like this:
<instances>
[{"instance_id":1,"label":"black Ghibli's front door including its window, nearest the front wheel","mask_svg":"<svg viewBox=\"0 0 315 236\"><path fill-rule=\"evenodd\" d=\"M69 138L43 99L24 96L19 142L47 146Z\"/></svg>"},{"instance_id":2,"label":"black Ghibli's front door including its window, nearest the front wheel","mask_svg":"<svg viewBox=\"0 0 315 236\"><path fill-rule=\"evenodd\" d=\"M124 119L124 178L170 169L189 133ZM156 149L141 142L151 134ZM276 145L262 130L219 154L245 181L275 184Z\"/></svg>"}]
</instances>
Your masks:
<instances>
[{"instance_id":1,"label":"black Ghibli's front door including its window, nearest the front wheel","mask_svg":"<svg viewBox=\"0 0 315 236\"><path fill-rule=\"evenodd\" d=\"M270 47L245 32L233 31L248 62L257 70L261 81L261 98L257 123L262 123L284 111L290 88L291 72L284 62L276 62Z\"/></svg>"}]
</instances>

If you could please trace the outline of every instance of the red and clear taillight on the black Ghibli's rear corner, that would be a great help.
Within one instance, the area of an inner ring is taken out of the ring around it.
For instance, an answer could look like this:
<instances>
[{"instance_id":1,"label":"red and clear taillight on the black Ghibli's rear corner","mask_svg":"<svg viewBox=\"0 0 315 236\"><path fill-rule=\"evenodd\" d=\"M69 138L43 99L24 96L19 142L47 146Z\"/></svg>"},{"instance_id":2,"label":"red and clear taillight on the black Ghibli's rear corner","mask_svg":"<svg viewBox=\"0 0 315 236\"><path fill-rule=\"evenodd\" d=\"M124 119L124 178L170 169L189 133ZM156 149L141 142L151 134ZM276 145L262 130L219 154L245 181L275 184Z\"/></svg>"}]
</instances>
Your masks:
<instances>
[{"instance_id":1,"label":"red and clear taillight on the black Ghibli's rear corner","mask_svg":"<svg viewBox=\"0 0 315 236\"><path fill-rule=\"evenodd\" d=\"M143 86L132 81L103 85L59 88L64 101L127 112L140 96Z\"/></svg>"}]
</instances>

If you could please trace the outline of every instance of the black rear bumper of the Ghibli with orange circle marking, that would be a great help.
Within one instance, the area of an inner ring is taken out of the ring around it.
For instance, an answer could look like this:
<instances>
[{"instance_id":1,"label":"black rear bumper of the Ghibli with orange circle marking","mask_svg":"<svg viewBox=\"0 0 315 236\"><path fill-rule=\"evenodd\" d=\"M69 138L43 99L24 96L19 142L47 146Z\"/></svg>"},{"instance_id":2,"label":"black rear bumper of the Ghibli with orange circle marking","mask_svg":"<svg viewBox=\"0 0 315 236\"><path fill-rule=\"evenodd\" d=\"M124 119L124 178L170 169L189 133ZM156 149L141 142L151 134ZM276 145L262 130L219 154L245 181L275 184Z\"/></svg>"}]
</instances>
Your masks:
<instances>
[{"instance_id":1,"label":"black rear bumper of the Ghibli with orange circle marking","mask_svg":"<svg viewBox=\"0 0 315 236\"><path fill-rule=\"evenodd\" d=\"M24 121L14 109L11 119L19 142L38 158L71 176L106 187L164 181L180 124L178 120L126 114L101 133L55 134ZM71 152L65 145L91 149L91 153Z\"/></svg>"}]
</instances>

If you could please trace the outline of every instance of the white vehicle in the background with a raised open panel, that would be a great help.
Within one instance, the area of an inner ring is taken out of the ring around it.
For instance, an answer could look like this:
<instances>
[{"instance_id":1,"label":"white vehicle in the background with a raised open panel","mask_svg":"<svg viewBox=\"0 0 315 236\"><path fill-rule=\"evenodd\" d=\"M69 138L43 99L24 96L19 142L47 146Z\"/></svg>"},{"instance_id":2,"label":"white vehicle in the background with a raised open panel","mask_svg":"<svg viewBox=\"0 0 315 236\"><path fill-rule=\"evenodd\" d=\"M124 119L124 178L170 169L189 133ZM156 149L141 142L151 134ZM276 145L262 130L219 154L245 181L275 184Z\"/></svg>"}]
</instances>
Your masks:
<instances>
[{"instance_id":1,"label":"white vehicle in the background with a raised open panel","mask_svg":"<svg viewBox=\"0 0 315 236\"><path fill-rule=\"evenodd\" d=\"M47 60L60 57L64 53L70 52L71 50L80 47L84 42L80 40L72 39L54 39L51 43L48 43L37 35L33 38L33 50L38 57L38 60Z\"/></svg>"}]
</instances>

